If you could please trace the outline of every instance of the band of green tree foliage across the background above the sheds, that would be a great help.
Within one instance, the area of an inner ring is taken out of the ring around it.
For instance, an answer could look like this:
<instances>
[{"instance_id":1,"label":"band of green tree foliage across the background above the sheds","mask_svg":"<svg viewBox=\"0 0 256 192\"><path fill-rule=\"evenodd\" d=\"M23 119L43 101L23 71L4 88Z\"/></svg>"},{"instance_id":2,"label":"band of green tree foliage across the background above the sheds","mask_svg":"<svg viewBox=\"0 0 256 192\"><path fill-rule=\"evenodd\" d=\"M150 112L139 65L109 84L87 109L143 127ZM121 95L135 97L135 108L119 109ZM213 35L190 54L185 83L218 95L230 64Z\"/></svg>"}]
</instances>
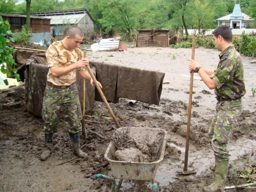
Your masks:
<instances>
[{"instance_id":1,"label":"band of green tree foliage across the background above the sheds","mask_svg":"<svg viewBox=\"0 0 256 192\"><path fill-rule=\"evenodd\" d=\"M3 13L86 8L95 22L95 30L105 34L123 33L132 39L138 29L215 28L216 19L232 13L239 0L0 0ZM241 0L242 12L256 19L256 1ZM253 25L251 25L253 26Z\"/></svg>"}]
</instances>

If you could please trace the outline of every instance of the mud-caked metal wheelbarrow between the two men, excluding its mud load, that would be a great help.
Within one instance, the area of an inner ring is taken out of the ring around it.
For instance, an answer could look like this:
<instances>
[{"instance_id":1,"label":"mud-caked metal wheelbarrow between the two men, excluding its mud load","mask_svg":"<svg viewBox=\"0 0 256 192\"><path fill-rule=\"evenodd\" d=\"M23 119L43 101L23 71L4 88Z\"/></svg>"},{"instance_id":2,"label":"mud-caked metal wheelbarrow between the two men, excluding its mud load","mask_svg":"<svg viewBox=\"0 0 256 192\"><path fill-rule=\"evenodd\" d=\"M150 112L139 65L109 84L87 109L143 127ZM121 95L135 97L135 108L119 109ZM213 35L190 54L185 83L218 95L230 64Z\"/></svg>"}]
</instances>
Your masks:
<instances>
[{"instance_id":1,"label":"mud-caked metal wheelbarrow between the two men, excluding its mud load","mask_svg":"<svg viewBox=\"0 0 256 192\"><path fill-rule=\"evenodd\" d=\"M122 133L122 134L120 134ZM112 170L112 176L96 174L91 176L91 180L98 178L109 180L112 182L112 192L116 188L116 179L120 179L116 191L119 191L123 179L152 181L152 191L158 191L157 183L154 178L156 176L159 163L163 160L167 132L157 128L148 127L120 127L115 131L115 135L129 134L130 137L143 141L146 145L151 146L151 150L155 152L153 162L134 162L134 161L119 161L116 159L115 144L111 141L104 154L104 158L109 161ZM119 137L119 142L122 142L122 137Z\"/></svg>"}]
</instances>

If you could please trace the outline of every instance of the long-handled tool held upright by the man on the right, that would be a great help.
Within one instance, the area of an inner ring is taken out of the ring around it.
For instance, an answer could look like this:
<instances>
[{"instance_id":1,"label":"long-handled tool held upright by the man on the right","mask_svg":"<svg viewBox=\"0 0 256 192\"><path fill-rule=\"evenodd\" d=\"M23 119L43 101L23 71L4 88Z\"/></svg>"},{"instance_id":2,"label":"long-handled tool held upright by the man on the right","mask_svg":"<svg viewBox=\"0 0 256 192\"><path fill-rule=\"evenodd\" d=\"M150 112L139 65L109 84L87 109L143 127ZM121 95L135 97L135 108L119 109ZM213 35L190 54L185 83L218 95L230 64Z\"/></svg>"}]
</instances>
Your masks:
<instances>
[{"instance_id":1,"label":"long-handled tool held upright by the man on the right","mask_svg":"<svg viewBox=\"0 0 256 192\"><path fill-rule=\"evenodd\" d=\"M192 56L191 56L191 59L193 59L193 60L195 60L195 49L196 49L196 42L195 42L195 35L194 35L193 39L192 39ZM197 173L197 171L195 169L187 170L191 106L192 106L192 94L193 94L193 76L194 76L194 72L191 71L191 73L190 73L190 85L189 85L189 102L188 102L188 115L187 115L187 132L186 132L186 148L185 148L184 169L183 169L183 172L178 172L178 175L191 175L191 174L196 174Z\"/></svg>"}]
</instances>

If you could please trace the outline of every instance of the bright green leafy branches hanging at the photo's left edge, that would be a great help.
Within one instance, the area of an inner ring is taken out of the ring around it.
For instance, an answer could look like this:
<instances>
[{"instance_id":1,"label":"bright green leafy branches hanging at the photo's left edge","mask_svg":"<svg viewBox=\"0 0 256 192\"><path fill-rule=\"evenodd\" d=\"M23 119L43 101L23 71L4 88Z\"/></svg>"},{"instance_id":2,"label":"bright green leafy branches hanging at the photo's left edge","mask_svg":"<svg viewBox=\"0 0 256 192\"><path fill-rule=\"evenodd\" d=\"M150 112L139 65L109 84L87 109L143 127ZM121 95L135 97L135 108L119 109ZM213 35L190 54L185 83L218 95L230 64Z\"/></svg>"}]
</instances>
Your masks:
<instances>
[{"instance_id":1,"label":"bright green leafy branches hanging at the photo's left edge","mask_svg":"<svg viewBox=\"0 0 256 192\"><path fill-rule=\"evenodd\" d=\"M0 16L0 68L3 74L7 74L7 77L14 74L15 78L19 80L19 75L17 74L17 70L13 68L16 65L11 49L8 44L10 41L14 41L11 37L12 32L10 30L10 24L6 20L4 22L2 16ZM4 79L6 85L8 85L8 80Z\"/></svg>"}]
</instances>

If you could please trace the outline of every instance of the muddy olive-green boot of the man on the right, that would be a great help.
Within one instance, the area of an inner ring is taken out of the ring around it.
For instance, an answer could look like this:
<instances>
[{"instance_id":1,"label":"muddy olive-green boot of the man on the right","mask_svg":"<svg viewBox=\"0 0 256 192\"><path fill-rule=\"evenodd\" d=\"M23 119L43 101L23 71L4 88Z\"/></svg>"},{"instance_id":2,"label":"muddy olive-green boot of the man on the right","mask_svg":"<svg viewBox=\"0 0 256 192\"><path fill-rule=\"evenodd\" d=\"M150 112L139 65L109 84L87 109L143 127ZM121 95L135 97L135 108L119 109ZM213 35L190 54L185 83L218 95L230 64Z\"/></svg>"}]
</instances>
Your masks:
<instances>
[{"instance_id":1,"label":"muddy olive-green boot of the man on the right","mask_svg":"<svg viewBox=\"0 0 256 192\"><path fill-rule=\"evenodd\" d=\"M220 162L215 160L216 166L214 172L214 182L208 186L205 186L204 191L217 192L220 191L220 187L224 187L228 174L228 162L229 161Z\"/></svg>"}]
</instances>

